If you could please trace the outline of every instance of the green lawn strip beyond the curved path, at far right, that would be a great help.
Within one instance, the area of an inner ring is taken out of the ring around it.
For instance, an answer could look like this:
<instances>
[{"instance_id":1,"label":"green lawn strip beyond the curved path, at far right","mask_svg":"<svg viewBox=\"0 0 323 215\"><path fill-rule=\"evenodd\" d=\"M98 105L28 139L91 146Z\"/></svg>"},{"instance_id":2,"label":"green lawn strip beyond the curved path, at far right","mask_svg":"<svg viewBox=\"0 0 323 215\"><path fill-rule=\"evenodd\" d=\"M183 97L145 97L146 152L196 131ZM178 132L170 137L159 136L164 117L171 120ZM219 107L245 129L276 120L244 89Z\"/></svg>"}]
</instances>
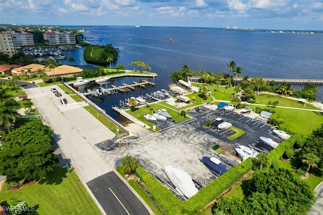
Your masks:
<instances>
[{"instance_id":1,"label":"green lawn strip beyond the curved path, at far right","mask_svg":"<svg viewBox=\"0 0 323 215\"><path fill-rule=\"evenodd\" d=\"M311 110L320 110L319 108L316 108L312 104L306 103L305 107L303 108L304 103L301 101L297 101L294 99L281 97L279 95L273 95L273 94L266 94L261 93L256 95L256 101L258 104L267 104L269 101L279 101L277 106L286 106L291 108L301 108L301 109L311 109Z\"/></svg>"}]
</instances>

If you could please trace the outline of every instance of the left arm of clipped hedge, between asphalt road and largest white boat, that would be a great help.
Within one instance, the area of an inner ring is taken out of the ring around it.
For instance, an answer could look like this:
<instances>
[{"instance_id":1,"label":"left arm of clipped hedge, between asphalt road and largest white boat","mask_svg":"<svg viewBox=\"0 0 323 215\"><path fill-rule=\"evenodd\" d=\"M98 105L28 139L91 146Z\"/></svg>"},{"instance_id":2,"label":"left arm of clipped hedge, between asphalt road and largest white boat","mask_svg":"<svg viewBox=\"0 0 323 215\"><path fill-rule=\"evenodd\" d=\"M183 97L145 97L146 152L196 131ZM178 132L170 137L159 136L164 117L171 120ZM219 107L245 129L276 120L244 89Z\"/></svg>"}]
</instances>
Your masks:
<instances>
[{"instance_id":1,"label":"left arm of clipped hedge, between asphalt road and largest white boat","mask_svg":"<svg viewBox=\"0 0 323 215\"><path fill-rule=\"evenodd\" d=\"M136 169L136 174L145 183L155 201L158 202L166 214L181 214L182 202L169 189L159 183L142 167Z\"/></svg>"}]
</instances>

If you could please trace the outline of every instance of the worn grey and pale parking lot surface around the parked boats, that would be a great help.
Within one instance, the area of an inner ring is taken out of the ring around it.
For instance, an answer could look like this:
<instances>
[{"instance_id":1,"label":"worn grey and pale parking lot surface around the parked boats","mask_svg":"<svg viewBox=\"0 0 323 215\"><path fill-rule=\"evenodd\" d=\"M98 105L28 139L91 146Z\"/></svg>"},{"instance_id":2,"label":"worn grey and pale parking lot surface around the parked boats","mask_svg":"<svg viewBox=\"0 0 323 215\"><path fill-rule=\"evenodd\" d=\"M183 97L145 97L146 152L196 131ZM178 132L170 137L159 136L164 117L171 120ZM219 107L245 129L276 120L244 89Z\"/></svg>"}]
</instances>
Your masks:
<instances>
[{"instance_id":1,"label":"worn grey and pale parking lot surface around the parked boats","mask_svg":"<svg viewBox=\"0 0 323 215\"><path fill-rule=\"evenodd\" d=\"M171 164L205 185L216 179L199 160L202 156L214 156L210 145L219 144L224 154L241 160L233 154L234 148L239 145L247 146L256 143L260 136L270 137L280 142L268 131L270 126L256 125L254 124L256 121L251 121L249 117L241 118L242 116L235 112L221 113L214 110L214 105L204 106L199 112L189 113L194 116L194 119L188 124L173 125L156 133L141 129L136 133L137 139L129 141L127 147L119 147L115 144L109 150L101 150L101 152L106 158L112 160L115 166L120 165L122 157L130 154L143 168L165 179L167 176L162 169L165 165ZM227 138L234 134L233 131L223 133L203 128L207 122L213 122L218 117L246 133L235 140L228 140ZM246 122L247 120L250 121Z\"/></svg>"}]
</instances>

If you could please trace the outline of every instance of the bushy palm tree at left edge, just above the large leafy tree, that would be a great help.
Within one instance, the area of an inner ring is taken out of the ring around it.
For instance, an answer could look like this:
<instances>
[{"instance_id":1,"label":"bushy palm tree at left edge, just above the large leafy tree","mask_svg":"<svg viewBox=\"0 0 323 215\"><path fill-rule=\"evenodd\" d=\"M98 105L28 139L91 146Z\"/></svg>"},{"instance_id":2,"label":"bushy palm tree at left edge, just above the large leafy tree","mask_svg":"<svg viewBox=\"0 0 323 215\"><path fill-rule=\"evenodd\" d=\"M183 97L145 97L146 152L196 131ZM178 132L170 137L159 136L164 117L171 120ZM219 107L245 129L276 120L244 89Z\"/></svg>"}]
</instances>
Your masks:
<instances>
[{"instance_id":1,"label":"bushy palm tree at left edge, just above the large leafy tree","mask_svg":"<svg viewBox=\"0 0 323 215\"><path fill-rule=\"evenodd\" d=\"M15 122L20 114L17 111L20 109L19 103L10 95L5 93L5 90L0 91L0 126L6 125L10 132L11 122Z\"/></svg>"}]
</instances>

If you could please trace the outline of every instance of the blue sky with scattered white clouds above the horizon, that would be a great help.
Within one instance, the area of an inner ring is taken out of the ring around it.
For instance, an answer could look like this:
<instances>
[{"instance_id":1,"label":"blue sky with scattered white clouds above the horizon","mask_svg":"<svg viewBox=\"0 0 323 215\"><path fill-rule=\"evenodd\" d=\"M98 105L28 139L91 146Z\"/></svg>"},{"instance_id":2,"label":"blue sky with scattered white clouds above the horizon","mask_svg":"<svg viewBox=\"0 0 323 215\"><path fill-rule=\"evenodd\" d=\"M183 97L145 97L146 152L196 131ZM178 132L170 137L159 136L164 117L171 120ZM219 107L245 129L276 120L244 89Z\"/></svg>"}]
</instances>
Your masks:
<instances>
[{"instance_id":1,"label":"blue sky with scattered white clouds above the horizon","mask_svg":"<svg viewBox=\"0 0 323 215\"><path fill-rule=\"evenodd\" d=\"M323 30L323 1L1 0L0 23Z\"/></svg>"}]
</instances>

